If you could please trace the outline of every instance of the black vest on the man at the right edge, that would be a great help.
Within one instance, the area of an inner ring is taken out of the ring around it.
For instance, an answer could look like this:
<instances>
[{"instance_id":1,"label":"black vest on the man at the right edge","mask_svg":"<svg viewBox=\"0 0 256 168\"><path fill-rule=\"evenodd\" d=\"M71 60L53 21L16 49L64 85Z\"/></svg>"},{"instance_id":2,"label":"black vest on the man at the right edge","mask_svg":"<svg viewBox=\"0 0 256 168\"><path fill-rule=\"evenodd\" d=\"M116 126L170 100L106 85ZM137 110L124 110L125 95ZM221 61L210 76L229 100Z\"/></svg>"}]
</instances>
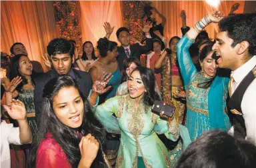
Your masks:
<instances>
[{"instance_id":1,"label":"black vest on the man at the right edge","mask_svg":"<svg viewBox=\"0 0 256 168\"><path fill-rule=\"evenodd\" d=\"M235 92L230 97L229 102L227 103L229 119L234 127L235 137L246 137L245 120L243 119L241 103L247 87L249 87L249 85L256 77L256 73L253 73L253 71L255 72L255 70L256 67L254 67L254 69L245 76L245 78L243 79L243 81L241 81L237 89L235 89Z\"/></svg>"}]
</instances>

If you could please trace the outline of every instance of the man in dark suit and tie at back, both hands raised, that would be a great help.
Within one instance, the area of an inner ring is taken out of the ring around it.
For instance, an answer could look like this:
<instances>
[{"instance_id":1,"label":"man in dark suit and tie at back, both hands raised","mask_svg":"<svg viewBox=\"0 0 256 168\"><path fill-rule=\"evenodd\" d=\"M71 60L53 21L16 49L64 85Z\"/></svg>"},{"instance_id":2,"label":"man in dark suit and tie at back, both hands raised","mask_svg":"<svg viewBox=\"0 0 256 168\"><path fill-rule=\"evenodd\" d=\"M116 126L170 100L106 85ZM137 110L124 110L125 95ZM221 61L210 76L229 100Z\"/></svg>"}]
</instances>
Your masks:
<instances>
[{"instance_id":1,"label":"man in dark suit and tie at back, both hands raised","mask_svg":"<svg viewBox=\"0 0 256 168\"><path fill-rule=\"evenodd\" d=\"M121 43L121 46L117 47L117 51L119 53L119 55L117 56L117 62L119 64L120 70L123 69L124 59L127 59L129 57L137 57L138 59L140 59L141 54L148 53L153 49L153 39L151 38L151 35L149 33L150 28L151 23L147 22L142 29L147 37L146 45L140 45L139 43L130 45L129 29L127 29L126 27L120 27L117 30L117 39ZM113 27L111 28L109 23L107 23L107 25L105 25L105 31L107 33L105 37L109 39L111 33L113 32Z\"/></svg>"}]
</instances>

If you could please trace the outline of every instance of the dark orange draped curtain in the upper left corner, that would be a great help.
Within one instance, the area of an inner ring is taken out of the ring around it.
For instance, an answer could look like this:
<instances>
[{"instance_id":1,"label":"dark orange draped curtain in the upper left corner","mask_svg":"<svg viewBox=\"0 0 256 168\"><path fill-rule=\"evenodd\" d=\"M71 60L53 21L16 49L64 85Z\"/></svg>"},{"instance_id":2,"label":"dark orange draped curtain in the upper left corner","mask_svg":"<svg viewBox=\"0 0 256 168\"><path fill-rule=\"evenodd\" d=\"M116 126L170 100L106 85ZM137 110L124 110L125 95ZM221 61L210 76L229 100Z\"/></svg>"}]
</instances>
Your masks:
<instances>
[{"instance_id":1,"label":"dark orange draped curtain in the upper left corner","mask_svg":"<svg viewBox=\"0 0 256 168\"><path fill-rule=\"evenodd\" d=\"M47 44L58 37L51 1L1 1L1 51L10 54L15 42L23 43L31 60L39 61Z\"/></svg>"}]
</instances>

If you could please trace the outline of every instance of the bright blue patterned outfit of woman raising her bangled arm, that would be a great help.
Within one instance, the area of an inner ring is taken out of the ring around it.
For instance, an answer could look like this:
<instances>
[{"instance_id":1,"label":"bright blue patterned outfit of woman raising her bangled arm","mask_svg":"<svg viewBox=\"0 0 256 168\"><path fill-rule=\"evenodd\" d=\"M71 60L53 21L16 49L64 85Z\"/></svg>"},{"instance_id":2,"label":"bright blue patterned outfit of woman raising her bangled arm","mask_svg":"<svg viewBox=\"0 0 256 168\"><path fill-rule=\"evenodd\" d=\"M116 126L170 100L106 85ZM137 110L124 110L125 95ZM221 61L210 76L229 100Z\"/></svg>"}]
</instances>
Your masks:
<instances>
[{"instance_id":1,"label":"bright blue patterned outfit of woman raising her bangled arm","mask_svg":"<svg viewBox=\"0 0 256 168\"><path fill-rule=\"evenodd\" d=\"M205 131L227 131L231 127L225 112L229 78L216 76L211 87L199 88L197 84L208 78L197 71L189 55L189 47L193 42L184 35L177 44L177 59L187 98L187 129L192 141Z\"/></svg>"}]
</instances>

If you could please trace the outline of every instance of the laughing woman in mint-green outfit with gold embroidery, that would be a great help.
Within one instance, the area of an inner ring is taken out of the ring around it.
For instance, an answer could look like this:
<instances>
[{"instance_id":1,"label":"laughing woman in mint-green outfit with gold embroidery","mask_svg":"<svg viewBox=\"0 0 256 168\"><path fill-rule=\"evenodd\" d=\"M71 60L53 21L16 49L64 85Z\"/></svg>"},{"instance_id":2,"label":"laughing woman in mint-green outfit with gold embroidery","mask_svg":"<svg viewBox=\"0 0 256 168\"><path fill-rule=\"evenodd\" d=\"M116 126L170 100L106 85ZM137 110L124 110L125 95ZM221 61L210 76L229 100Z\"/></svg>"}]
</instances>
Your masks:
<instances>
[{"instance_id":1,"label":"laughing woman in mint-green outfit with gold embroidery","mask_svg":"<svg viewBox=\"0 0 256 168\"><path fill-rule=\"evenodd\" d=\"M187 128L167 121L151 112L159 96L155 92L155 74L146 67L137 67L128 81L129 94L108 99L96 108L95 115L112 133L121 132L116 167L170 167L171 161L158 134L185 145L190 143ZM113 116L116 115L116 117Z\"/></svg>"}]
</instances>

